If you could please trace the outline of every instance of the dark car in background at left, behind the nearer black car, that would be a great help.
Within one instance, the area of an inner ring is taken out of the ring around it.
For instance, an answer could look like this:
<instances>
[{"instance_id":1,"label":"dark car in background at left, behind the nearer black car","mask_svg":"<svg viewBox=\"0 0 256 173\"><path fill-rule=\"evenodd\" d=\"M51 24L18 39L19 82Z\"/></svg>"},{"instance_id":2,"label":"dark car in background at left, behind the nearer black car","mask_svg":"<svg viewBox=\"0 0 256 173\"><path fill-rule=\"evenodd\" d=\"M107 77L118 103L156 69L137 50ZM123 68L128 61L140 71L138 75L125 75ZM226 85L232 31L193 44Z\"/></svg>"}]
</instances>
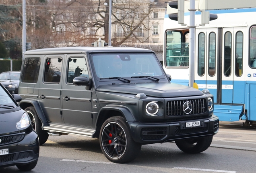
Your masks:
<instances>
[{"instance_id":1,"label":"dark car in background at left, behind the nearer black car","mask_svg":"<svg viewBox=\"0 0 256 173\"><path fill-rule=\"evenodd\" d=\"M11 94L18 94L20 71L2 72L0 74L0 82Z\"/></svg>"}]
</instances>

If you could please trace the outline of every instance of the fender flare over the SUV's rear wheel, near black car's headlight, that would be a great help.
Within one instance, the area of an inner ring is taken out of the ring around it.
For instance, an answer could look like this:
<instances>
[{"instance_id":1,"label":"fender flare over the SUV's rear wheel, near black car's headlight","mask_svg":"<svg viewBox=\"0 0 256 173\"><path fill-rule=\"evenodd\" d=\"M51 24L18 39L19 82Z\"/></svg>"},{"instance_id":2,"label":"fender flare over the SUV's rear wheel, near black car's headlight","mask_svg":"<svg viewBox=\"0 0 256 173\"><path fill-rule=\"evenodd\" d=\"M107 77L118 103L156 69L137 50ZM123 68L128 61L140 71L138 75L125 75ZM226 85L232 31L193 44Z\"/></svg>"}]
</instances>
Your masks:
<instances>
[{"instance_id":1,"label":"fender flare over the SUV's rear wheel, near black car's headlight","mask_svg":"<svg viewBox=\"0 0 256 173\"><path fill-rule=\"evenodd\" d=\"M29 106L33 106L42 124L47 123L47 120L43 114L43 110L37 100L25 99L19 102L22 109L26 109Z\"/></svg>"}]
</instances>

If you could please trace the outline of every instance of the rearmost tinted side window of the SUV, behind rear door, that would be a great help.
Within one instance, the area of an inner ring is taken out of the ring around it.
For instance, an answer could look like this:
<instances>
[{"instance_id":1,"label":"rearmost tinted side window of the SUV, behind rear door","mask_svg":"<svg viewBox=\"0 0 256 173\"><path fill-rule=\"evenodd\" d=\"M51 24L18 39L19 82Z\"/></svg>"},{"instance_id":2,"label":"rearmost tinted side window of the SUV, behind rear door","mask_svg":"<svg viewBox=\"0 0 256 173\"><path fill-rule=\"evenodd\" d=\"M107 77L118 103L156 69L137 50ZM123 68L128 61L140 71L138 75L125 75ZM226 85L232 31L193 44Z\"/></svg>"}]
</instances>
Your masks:
<instances>
[{"instance_id":1,"label":"rearmost tinted side window of the SUV, behind rear door","mask_svg":"<svg viewBox=\"0 0 256 173\"><path fill-rule=\"evenodd\" d=\"M40 64L41 58L26 58L22 67L21 82L36 83Z\"/></svg>"}]
</instances>

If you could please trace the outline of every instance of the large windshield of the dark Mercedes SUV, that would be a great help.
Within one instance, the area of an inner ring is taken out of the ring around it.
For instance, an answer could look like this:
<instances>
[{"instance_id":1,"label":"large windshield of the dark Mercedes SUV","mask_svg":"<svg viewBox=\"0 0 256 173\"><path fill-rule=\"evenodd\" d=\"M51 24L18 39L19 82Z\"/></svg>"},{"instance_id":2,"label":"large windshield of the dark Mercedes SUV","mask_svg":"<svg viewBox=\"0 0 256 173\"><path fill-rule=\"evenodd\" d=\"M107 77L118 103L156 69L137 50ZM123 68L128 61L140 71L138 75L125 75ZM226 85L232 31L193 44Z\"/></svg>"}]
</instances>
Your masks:
<instances>
[{"instance_id":1,"label":"large windshield of the dark Mercedes SUV","mask_svg":"<svg viewBox=\"0 0 256 173\"><path fill-rule=\"evenodd\" d=\"M164 78L154 54L121 53L93 54L93 66L98 78L157 76Z\"/></svg>"}]
</instances>

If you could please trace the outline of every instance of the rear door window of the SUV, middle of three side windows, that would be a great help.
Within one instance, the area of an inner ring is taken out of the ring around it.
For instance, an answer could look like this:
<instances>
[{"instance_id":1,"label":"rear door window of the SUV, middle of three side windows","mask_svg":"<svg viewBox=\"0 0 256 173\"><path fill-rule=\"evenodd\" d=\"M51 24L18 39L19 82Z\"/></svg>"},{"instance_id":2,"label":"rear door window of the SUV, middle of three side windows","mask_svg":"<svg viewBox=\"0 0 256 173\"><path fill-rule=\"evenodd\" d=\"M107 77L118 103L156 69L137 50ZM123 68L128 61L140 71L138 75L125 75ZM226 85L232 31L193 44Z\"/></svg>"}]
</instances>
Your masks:
<instances>
[{"instance_id":1,"label":"rear door window of the SUV, middle of three side windows","mask_svg":"<svg viewBox=\"0 0 256 173\"><path fill-rule=\"evenodd\" d=\"M62 58L47 58L45 61L44 82L60 83Z\"/></svg>"}]
</instances>

